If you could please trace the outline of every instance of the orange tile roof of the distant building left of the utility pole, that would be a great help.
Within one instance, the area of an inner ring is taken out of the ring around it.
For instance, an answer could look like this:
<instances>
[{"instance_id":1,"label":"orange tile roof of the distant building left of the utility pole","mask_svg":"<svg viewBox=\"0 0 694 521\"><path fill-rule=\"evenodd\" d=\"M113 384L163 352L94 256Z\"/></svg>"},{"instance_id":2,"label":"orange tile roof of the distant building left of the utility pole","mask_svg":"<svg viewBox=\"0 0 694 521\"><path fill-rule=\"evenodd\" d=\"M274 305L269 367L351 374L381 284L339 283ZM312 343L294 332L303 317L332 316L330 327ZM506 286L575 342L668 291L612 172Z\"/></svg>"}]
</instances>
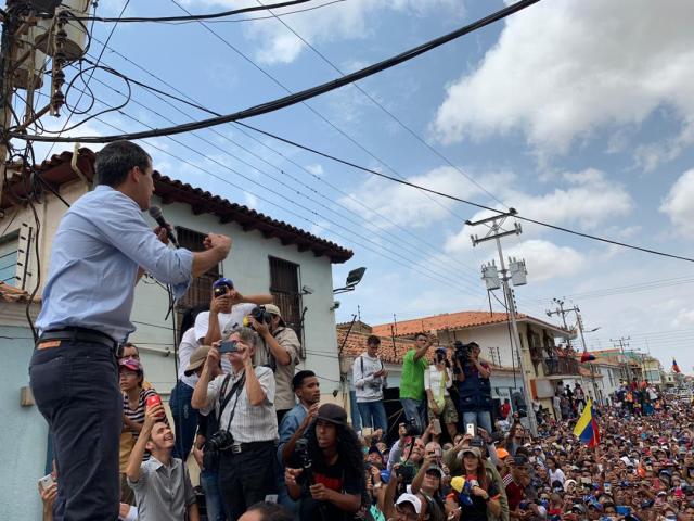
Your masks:
<instances>
[{"instance_id":1,"label":"orange tile roof of the distant building left of the utility pole","mask_svg":"<svg viewBox=\"0 0 694 521\"><path fill-rule=\"evenodd\" d=\"M527 318L527 315L518 314L518 318ZM505 313L489 312L459 312L444 313L433 317L415 318L412 320L398 321L395 326L397 336L407 336L416 333L427 333L429 331L441 331L446 329L474 328L489 323L506 322L509 315ZM390 335L390 323L373 326L373 332L377 335Z\"/></svg>"}]
</instances>

